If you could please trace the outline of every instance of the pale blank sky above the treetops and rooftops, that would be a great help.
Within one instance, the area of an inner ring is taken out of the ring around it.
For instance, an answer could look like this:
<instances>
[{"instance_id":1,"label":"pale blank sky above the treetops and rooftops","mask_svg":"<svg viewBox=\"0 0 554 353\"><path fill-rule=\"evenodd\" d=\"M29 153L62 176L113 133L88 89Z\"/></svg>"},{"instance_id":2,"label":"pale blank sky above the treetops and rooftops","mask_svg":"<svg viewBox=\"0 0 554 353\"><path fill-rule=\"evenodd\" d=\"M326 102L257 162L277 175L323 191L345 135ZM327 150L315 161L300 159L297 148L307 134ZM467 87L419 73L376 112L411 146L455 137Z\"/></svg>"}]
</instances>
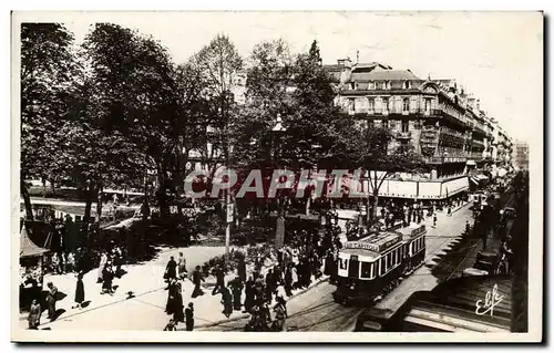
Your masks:
<instances>
[{"instance_id":1,"label":"pale blank sky above the treetops and rooftops","mask_svg":"<svg viewBox=\"0 0 554 353\"><path fill-rule=\"evenodd\" d=\"M75 12L54 19L78 42L94 22L136 29L160 40L177 63L217 33L227 34L243 56L265 40L281 38L299 52L316 39L324 63L356 61L359 52L360 62L410 69L421 79L455 79L515 139L530 141L533 124L542 126L538 12Z\"/></svg>"}]
</instances>

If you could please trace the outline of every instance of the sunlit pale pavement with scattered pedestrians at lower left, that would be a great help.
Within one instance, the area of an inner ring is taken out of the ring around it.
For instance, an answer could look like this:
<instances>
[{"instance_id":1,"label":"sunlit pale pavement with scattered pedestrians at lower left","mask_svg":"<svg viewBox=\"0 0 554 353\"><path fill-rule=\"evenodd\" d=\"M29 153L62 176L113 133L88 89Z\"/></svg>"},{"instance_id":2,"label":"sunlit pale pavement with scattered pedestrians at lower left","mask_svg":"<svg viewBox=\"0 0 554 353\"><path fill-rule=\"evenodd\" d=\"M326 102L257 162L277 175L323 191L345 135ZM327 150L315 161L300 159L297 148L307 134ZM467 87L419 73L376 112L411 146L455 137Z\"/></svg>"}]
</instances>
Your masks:
<instances>
[{"instance_id":1,"label":"sunlit pale pavement with scattered pedestrians at lower left","mask_svg":"<svg viewBox=\"0 0 554 353\"><path fill-rule=\"evenodd\" d=\"M187 260L187 269L192 271L197 264L203 264L207 259L223 255L224 247L191 247L182 249L161 248L157 257L146 263L123 266L127 273L121 279L115 278L113 285L115 293L100 294L101 283L96 283L98 270L88 272L83 278L85 301L90 301L84 309L72 309L76 277L71 274L47 276L44 283L51 281L65 298L57 302L57 310L61 312L54 322L48 322L47 312L42 314L39 329L51 330L162 330L170 316L164 312L167 300L166 283L163 274L165 266L173 256L175 259L182 251ZM208 310L213 301L204 295L191 300L193 291L191 281L185 281L183 301L195 303L198 311ZM132 291L134 298L127 299ZM216 297L214 297L216 298ZM205 302L205 303L204 303ZM45 309L45 308L43 308ZM223 314L220 314L223 316ZM21 323L27 328L27 321Z\"/></svg>"}]
</instances>

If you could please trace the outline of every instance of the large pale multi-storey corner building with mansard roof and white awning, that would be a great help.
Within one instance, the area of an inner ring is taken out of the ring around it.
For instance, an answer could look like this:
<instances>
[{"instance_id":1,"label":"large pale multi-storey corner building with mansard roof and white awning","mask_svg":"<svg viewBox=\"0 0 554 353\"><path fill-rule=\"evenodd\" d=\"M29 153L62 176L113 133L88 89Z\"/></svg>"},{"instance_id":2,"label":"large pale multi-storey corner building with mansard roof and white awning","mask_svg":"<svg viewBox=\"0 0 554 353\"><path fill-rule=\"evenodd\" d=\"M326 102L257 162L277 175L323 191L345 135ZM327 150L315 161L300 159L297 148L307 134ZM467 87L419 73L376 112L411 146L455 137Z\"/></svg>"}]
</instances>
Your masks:
<instances>
[{"instance_id":1,"label":"large pale multi-storey corner building with mansard roof and white awning","mask_svg":"<svg viewBox=\"0 0 554 353\"><path fill-rule=\"evenodd\" d=\"M404 178L406 183L396 183L394 191L380 190L382 196L453 196L469 188L468 169L492 159L493 122L455 80L422 80L410 70L376 62L352 64L348 59L326 69L337 84L336 104L346 114L368 128L387 125L396 137L389 150L411 145L431 166L430 175L418 177L417 185Z\"/></svg>"}]
</instances>

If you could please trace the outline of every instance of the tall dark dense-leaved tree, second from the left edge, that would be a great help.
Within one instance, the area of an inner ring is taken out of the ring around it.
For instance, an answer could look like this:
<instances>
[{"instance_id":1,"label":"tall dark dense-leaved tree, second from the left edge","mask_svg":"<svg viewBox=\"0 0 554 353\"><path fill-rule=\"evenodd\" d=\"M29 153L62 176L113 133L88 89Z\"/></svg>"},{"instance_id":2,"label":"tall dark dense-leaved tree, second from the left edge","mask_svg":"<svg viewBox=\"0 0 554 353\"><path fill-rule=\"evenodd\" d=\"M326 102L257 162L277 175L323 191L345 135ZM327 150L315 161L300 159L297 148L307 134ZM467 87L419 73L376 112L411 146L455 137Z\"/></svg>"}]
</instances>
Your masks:
<instances>
[{"instance_id":1,"label":"tall dark dense-leaved tree, second from the left edge","mask_svg":"<svg viewBox=\"0 0 554 353\"><path fill-rule=\"evenodd\" d=\"M96 116L104 131L121 133L147 157L157 173L160 211L166 216L166 190L183 145L176 68L157 41L116 24L95 24L84 49Z\"/></svg>"}]
</instances>

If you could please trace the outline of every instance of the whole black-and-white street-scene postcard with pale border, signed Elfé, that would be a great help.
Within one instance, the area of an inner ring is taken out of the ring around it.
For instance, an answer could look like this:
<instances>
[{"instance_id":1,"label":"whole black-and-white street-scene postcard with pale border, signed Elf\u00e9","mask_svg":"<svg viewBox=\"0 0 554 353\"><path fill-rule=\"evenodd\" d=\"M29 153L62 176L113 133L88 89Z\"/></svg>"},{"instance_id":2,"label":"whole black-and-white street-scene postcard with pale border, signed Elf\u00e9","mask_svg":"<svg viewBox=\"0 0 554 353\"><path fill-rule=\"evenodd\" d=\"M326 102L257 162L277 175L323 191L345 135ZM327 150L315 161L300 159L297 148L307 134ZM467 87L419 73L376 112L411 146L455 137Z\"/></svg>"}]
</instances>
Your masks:
<instances>
[{"instance_id":1,"label":"whole black-and-white street-scene postcard with pale border, signed Elf\u00e9","mask_svg":"<svg viewBox=\"0 0 554 353\"><path fill-rule=\"evenodd\" d=\"M11 20L12 341L542 341L542 12Z\"/></svg>"}]
</instances>

